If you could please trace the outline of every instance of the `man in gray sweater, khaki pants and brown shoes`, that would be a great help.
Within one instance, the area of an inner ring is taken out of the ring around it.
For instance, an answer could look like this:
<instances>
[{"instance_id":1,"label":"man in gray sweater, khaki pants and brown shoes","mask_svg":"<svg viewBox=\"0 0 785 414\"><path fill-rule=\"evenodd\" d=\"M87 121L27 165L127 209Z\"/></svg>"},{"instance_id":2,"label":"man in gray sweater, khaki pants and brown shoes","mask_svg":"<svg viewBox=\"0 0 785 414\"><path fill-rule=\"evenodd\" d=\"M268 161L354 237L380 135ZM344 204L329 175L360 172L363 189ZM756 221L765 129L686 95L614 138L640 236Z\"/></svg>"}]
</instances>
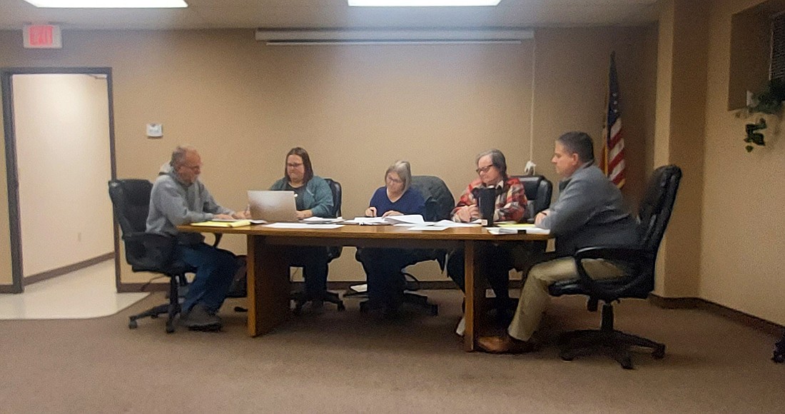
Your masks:
<instances>
[{"instance_id":1,"label":"man in gray sweater, khaki pants and brown shoes","mask_svg":"<svg viewBox=\"0 0 785 414\"><path fill-rule=\"evenodd\" d=\"M594 165L591 137L568 132L556 141L553 159L559 182L559 198L550 209L535 217L535 225L550 229L556 237L556 256L568 256L583 247L637 247L637 221L623 207L622 193ZM623 269L601 259L584 262L595 279L623 276ZM478 339L487 352L520 353L534 350L531 335L537 329L550 299L548 286L558 280L578 278L571 257L560 257L531 268L513 321L504 336Z\"/></svg>"}]
</instances>

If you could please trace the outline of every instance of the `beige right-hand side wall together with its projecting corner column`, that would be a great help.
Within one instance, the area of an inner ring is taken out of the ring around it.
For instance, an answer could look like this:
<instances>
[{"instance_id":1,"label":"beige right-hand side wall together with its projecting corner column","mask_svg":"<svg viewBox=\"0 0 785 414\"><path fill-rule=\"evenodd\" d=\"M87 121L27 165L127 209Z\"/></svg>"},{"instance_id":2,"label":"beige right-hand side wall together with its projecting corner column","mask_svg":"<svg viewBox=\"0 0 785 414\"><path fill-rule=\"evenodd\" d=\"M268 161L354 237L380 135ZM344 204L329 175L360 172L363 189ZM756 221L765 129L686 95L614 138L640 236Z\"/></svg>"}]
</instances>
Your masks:
<instances>
[{"instance_id":1,"label":"beige right-hand side wall together with its projecting corner column","mask_svg":"<svg viewBox=\"0 0 785 414\"><path fill-rule=\"evenodd\" d=\"M667 0L659 18L655 165L685 171L660 251L656 292L699 297L778 324L785 279L782 125L744 151L744 119L728 111L731 17L758 0Z\"/></svg>"}]
</instances>

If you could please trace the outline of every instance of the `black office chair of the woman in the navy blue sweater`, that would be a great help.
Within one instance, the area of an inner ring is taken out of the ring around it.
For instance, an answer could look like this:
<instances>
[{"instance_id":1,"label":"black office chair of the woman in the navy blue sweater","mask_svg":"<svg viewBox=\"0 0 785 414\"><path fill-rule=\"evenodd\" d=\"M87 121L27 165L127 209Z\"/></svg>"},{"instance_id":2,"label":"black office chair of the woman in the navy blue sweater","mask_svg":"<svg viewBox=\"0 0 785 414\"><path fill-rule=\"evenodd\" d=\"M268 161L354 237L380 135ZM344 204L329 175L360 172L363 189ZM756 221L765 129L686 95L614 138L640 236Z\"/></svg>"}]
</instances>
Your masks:
<instances>
[{"instance_id":1,"label":"black office chair of the woman in the navy blue sweater","mask_svg":"<svg viewBox=\"0 0 785 414\"><path fill-rule=\"evenodd\" d=\"M425 199L426 221L438 222L450 218L452 208L455 207L455 199L441 178L432 175L414 175L411 178L411 187L417 189ZM358 248L355 255L358 262L360 261L360 250ZM420 262L436 260L436 262L439 262L440 269L444 272L446 258L447 251L443 249L427 249L422 252L422 260ZM439 305L428 302L428 296L418 295L413 292L419 288L417 278L406 272L405 269L402 269L401 273L407 280L407 290L403 292L403 302L425 308L433 316L438 315ZM360 312L367 311L367 304L367 300L360 302Z\"/></svg>"}]
</instances>

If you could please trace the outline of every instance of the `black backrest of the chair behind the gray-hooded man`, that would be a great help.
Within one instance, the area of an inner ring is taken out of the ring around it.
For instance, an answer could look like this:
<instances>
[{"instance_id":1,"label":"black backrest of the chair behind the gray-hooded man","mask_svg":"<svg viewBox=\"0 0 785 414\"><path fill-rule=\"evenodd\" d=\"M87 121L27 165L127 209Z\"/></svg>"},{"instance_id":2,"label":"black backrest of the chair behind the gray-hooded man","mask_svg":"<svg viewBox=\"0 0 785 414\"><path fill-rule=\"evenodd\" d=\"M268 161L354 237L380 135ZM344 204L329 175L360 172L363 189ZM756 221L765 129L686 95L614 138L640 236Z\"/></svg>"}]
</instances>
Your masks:
<instances>
[{"instance_id":1,"label":"black backrest of the chair behind the gray-hooded man","mask_svg":"<svg viewBox=\"0 0 785 414\"><path fill-rule=\"evenodd\" d=\"M152 183L126 179L109 181L109 197L122 234L144 233L150 209Z\"/></svg>"}]
</instances>

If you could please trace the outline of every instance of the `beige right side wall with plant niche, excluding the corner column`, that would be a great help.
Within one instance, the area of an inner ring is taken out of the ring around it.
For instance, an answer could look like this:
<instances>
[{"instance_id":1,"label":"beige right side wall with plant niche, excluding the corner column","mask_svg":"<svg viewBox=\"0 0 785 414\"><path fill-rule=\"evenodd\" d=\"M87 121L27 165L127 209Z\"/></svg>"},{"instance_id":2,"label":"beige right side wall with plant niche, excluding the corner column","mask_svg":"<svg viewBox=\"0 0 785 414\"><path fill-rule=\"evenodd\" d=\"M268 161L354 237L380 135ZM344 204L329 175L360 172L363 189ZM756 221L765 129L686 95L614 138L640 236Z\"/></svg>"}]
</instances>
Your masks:
<instances>
[{"instance_id":1,"label":"beige right side wall with plant niche, excluding the corner column","mask_svg":"<svg viewBox=\"0 0 785 414\"><path fill-rule=\"evenodd\" d=\"M715 2L709 13L705 174L699 295L785 324L785 141L769 127L767 147L744 151L745 119L728 111L732 13L755 0ZM771 119L770 119L771 120Z\"/></svg>"}]
</instances>

